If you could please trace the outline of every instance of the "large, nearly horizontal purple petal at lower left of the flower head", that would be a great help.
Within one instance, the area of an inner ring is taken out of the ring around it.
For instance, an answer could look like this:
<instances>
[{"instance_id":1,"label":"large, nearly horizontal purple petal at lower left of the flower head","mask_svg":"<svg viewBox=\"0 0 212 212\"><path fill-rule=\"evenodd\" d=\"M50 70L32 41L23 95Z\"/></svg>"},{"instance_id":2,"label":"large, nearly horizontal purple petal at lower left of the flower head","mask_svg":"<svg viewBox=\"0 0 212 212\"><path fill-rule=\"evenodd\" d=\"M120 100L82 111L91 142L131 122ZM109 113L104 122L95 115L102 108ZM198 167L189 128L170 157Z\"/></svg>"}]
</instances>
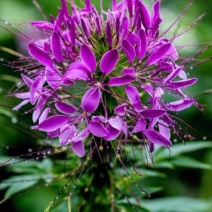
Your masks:
<instances>
[{"instance_id":1,"label":"large, nearly horizontal purple petal at lower left of the flower head","mask_svg":"<svg viewBox=\"0 0 212 212\"><path fill-rule=\"evenodd\" d=\"M39 130L53 132L69 121L68 116L56 115L45 119L38 125Z\"/></svg>"}]
</instances>

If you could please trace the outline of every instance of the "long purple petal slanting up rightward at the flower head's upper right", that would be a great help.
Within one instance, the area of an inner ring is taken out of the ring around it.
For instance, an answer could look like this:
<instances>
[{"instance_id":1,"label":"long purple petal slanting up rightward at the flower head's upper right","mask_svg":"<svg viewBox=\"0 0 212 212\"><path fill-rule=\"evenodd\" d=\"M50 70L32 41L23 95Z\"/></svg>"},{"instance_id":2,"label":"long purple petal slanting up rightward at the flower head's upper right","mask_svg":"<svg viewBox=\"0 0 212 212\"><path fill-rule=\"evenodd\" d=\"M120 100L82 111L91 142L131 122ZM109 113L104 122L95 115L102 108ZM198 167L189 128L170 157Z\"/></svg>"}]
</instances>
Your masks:
<instances>
[{"instance_id":1,"label":"long purple petal slanting up rightward at the flower head's upper right","mask_svg":"<svg viewBox=\"0 0 212 212\"><path fill-rule=\"evenodd\" d=\"M170 49L171 44L166 43L160 46L157 50L152 52L147 60L147 65L156 64Z\"/></svg>"}]
</instances>

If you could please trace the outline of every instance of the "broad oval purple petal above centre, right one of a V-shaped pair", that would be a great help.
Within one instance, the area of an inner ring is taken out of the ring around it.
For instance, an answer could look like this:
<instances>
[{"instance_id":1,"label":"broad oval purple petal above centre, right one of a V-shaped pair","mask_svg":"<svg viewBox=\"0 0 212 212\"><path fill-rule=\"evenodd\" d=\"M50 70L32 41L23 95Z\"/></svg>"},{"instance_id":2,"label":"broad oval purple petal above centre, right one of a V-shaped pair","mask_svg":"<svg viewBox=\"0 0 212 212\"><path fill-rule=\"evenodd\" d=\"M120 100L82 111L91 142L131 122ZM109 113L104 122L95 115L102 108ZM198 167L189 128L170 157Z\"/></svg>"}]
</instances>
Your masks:
<instances>
[{"instance_id":1,"label":"broad oval purple petal above centre, right one of a V-shaped pair","mask_svg":"<svg viewBox=\"0 0 212 212\"><path fill-rule=\"evenodd\" d=\"M115 68L116 63L119 59L118 50L112 49L107 51L101 61L100 61L100 69L104 74L110 74L111 71Z\"/></svg>"}]
</instances>

